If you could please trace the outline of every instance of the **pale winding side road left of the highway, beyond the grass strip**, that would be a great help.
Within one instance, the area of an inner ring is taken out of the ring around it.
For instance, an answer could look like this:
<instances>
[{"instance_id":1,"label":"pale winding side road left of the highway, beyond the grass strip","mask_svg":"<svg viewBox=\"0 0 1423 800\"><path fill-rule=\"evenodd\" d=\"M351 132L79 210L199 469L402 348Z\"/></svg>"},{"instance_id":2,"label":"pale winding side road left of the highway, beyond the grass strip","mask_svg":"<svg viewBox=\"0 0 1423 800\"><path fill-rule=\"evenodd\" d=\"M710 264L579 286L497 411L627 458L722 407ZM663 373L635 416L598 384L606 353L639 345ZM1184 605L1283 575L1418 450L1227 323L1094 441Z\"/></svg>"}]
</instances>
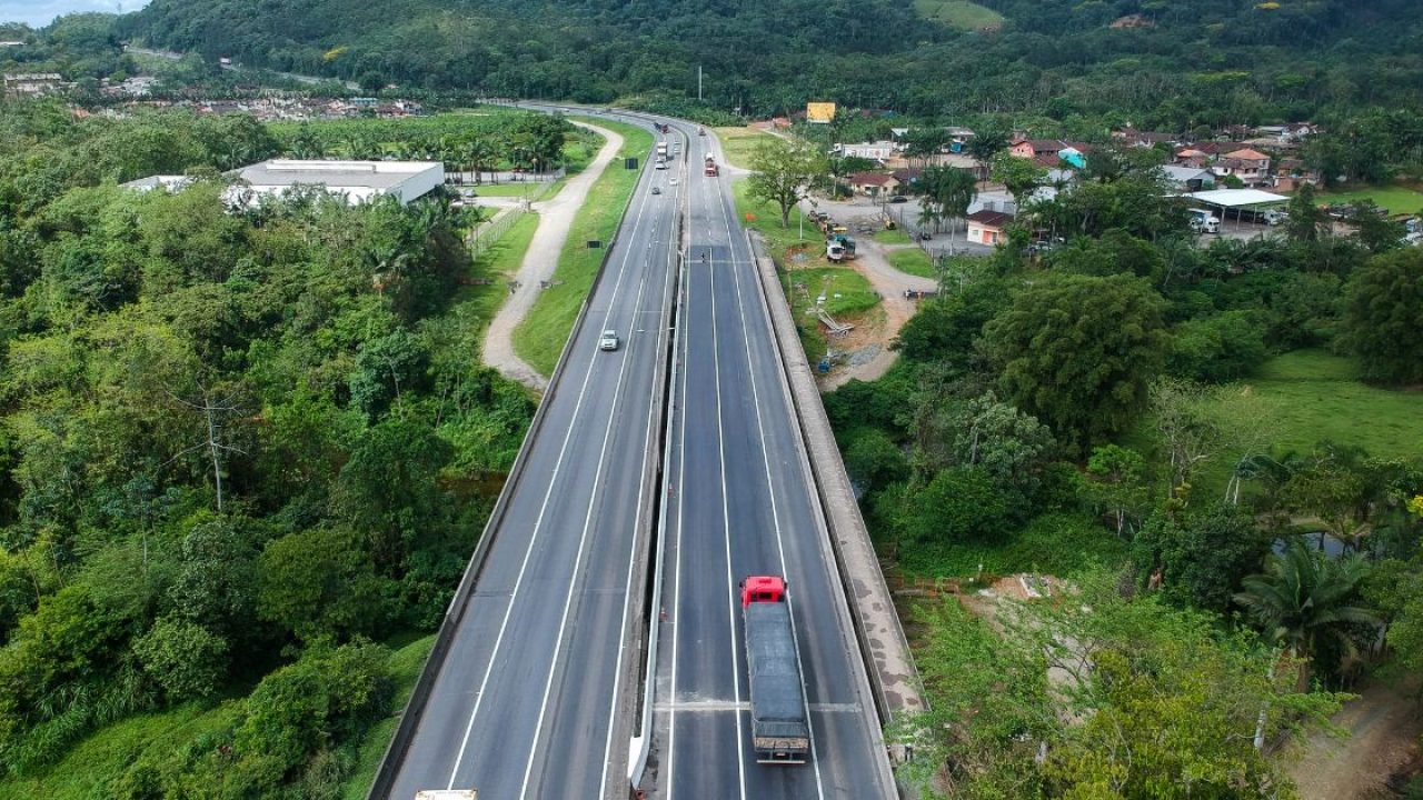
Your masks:
<instances>
[{"instance_id":1,"label":"pale winding side road left of the highway, beyond the grass strip","mask_svg":"<svg viewBox=\"0 0 1423 800\"><path fill-rule=\"evenodd\" d=\"M583 122L573 124L602 134L608 144L598 151L598 157L586 169L569 178L556 196L534 204L534 211L539 215L538 231L534 232L529 249L524 253L524 263L514 275L518 289L499 306L499 312L490 322L490 330L484 335L484 363L499 370L504 377L538 391L548 387L548 377L539 374L514 352L514 329L534 307L539 280L549 280L554 276L558 256L564 252L564 242L568 239L568 229L573 225L573 216L588 199L588 191L593 182L603 174L603 168L618 157L623 144L622 137L608 128Z\"/></svg>"}]
</instances>

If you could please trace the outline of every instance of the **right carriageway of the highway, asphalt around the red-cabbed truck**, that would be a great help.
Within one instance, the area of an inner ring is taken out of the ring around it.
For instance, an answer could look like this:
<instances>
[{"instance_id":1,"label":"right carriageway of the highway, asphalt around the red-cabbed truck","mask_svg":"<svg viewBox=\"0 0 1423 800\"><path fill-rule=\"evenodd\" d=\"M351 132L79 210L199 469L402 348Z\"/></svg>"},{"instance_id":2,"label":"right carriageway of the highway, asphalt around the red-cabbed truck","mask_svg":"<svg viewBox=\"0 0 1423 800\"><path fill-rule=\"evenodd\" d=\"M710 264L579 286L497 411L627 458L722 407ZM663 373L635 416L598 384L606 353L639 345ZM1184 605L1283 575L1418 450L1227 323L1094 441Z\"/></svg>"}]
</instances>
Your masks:
<instances>
[{"instance_id":1,"label":"right carriageway of the highway, asphalt around the red-cabbed truck","mask_svg":"<svg viewBox=\"0 0 1423 800\"><path fill-rule=\"evenodd\" d=\"M669 434L659 774L672 799L894 797L848 608L727 178L689 154L687 258ZM737 585L785 575L811 709L811 760L757 764Z\"/></svg>"}]
</instances>

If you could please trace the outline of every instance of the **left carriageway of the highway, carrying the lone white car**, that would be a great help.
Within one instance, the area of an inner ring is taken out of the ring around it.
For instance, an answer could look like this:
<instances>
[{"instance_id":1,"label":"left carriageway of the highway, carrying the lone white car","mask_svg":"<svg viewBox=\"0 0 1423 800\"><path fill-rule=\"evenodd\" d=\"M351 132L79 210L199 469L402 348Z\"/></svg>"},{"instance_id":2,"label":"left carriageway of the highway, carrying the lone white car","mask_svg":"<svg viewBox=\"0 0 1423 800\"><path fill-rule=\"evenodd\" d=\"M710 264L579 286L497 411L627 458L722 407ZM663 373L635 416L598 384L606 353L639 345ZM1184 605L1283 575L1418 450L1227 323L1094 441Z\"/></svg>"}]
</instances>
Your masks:
<instances>
[{"instance_id":1,"label":"left carriageway of the highway, carrying the lone white car","mask_svg":"<svg viewBox=\"0 0 1423 800\"><path fill-rule=\"evenodd\" d=\"M620 165L613 165L618 168ZM626 797L679 188L645 171L388 797ZM660 195L650 188L659 185ZM622 346L601 352L603 330Z\"/></svg>"}]
</instances>

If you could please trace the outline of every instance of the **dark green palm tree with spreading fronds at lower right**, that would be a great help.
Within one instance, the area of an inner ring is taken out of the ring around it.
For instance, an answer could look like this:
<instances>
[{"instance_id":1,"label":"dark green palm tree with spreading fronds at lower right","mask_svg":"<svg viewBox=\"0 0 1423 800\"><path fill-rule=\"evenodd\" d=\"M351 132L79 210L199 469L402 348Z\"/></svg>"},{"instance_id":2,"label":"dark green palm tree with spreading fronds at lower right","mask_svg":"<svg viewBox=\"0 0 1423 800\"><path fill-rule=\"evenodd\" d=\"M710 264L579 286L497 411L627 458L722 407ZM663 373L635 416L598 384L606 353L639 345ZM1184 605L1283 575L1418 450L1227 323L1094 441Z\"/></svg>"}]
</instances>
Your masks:
<instances>
[{"instance_id":1,"label":"dark green palm tree with spreading fronds at lower right","mask_svg":"<svg viewBox=\"0 0 1423 800\"><path fill-rule=\"evenodd\" d=\"M1353 651L1349 625L1377 625L1369 609L1349 605L1369 565L1358 555L1328 558L1299 540L1265 561L1265 572L1241 581L1235 602L1292 658L1301 659L1299 689L1309 686L1309 659L1325 639Z\"/></svg>"}]
</instances>

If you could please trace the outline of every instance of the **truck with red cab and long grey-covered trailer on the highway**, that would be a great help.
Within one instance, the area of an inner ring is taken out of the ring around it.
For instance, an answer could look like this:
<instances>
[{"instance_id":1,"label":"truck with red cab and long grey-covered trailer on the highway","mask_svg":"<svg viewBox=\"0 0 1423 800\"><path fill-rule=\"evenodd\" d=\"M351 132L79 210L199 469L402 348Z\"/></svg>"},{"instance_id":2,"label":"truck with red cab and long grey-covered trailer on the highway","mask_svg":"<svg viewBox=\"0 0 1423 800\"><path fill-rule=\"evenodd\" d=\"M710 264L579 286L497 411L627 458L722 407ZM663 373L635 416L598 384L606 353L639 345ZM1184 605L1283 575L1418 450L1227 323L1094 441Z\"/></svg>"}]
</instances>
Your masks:
<instances>
[{"instance_id":1,"label":"truck with red cab and long grey-covered trailer on the highway","mask_svg":"<svg viewBox=\"0 0 1423 800\"><path fill-rule=\"evenodd\" d=\"M791 609L785 602L785 581L776 575L741 581L741 621L756 762L804 764L810 756L810 713Z\"/></svg>"}]
</instances>

